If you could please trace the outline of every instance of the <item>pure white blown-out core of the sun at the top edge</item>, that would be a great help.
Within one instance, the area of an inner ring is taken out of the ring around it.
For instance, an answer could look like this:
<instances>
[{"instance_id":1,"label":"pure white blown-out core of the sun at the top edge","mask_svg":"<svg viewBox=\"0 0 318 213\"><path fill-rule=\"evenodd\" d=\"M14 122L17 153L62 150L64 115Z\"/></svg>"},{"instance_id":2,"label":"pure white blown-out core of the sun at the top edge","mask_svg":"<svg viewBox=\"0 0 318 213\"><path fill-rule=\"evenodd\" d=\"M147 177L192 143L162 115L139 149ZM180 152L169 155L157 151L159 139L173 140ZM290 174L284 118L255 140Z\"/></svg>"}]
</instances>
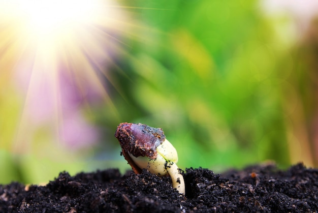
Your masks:
<instances>
[{"instance_id":1,"label":"pure white blown-out core of the sun at the top edge","mask_svg":"<svg viewBox=\"0 0 318 213\"><path fill-rule=\"evenodd\" d=\"M25 14L31 32L37 36L53 34L52 38L56 33L70 33L78 24L98 21L100 6L97 1L21 1L20 12Z\"/></svg>"}]
</instances>

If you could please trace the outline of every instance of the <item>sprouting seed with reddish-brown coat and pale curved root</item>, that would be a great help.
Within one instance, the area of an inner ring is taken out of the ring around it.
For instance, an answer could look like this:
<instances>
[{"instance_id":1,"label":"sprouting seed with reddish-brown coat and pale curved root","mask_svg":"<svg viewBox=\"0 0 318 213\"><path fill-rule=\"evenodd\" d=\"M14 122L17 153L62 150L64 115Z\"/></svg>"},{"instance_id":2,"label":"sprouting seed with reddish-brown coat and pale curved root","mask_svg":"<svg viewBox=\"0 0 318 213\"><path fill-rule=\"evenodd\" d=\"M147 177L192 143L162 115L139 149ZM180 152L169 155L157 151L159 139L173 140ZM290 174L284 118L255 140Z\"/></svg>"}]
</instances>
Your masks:
<instances>
[{"instance_id":1,"label":"sprouting seed with reddish-brown coat and pale curved root","mask_svg":"<svg viewBox=\"0 0 318 213\"><path fill-rule=\"evenodd\" d=\"M169 174L172 186L180 194L185 194L184 179L176 164L177 150L166 139L161 128L121 123L115 137L120 143L124 158L136 174L140 174L142 169L160 176Z\"/></svg>"}]
</instances>

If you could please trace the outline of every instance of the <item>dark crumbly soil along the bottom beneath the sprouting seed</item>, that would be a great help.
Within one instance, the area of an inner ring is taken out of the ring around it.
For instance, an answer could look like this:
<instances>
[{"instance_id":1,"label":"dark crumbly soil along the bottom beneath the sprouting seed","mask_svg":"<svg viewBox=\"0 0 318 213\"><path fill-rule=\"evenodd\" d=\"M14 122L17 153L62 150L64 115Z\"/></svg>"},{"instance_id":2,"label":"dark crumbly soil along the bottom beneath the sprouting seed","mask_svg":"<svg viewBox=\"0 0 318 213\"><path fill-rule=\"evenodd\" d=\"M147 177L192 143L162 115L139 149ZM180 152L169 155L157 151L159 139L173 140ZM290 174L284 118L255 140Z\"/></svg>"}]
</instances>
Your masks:
<instances>
[{"instance_id":1,"label":"dark crumbly soil along the bottom beneath the sprouting seed","mask_svg":"<svg viewBox=\"0 0 318 213\"><path fill-rule=\"evenodd\" d=\"M117 169L59 174L46 186L0 185L0 212L318 212L318 169L272 164L231 170L186 169L186 195L170 177Z\"/></svg>"}]
</instances>

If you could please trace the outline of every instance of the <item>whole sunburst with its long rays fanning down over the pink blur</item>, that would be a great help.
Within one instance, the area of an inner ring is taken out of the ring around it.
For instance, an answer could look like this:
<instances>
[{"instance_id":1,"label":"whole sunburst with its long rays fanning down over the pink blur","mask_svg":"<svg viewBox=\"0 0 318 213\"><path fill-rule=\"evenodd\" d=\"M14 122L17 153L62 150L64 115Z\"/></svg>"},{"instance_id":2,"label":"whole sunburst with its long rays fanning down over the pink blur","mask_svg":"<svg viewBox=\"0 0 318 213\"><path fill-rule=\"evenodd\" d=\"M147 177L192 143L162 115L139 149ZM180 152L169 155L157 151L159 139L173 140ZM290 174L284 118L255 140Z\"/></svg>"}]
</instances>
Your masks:
<instances>
[{"instance_id":1,"label":"whole sunburst with its long rays fanning down over the pink blur","mask_svg":"<svg viewBox=\"0 0 318 213\"><path fill-rule=\"evenodd\" d=\"M74 122L75 90L80 99L91 91L107 98L101 76L127 26L110 0L0 0L0 77L11 76L25 95L17 141L33 140L25 138L28 125L52 117L67 138L56 126Z\"/></svg>"}]
</instances>

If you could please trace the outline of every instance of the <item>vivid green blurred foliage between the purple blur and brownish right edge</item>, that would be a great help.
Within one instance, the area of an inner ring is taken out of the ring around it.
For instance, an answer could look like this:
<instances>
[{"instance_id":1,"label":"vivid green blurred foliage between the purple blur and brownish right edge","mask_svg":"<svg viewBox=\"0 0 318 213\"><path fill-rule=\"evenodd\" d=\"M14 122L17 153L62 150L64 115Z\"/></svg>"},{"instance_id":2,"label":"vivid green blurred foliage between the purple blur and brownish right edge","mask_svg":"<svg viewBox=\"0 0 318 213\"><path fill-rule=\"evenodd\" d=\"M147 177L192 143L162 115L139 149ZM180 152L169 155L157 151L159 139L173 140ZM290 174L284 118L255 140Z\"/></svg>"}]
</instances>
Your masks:
<instances>
[{"instance_id":1,"label":"vivid green blurred foliage between the purple blur and brownish right edge","mask_svg":"<svg viewBox=\"0 0 318 213\"><path fill-rule=\"evenodd\" d=\"M163 128L183 169L268 159L289 165L279 87L285 76L276 70L287 47L277 43L256 2L134 7L145 27L108 79L117 111L102 108L99 122L107 129L121 122Z\"/></svg>"}]
</instances>

